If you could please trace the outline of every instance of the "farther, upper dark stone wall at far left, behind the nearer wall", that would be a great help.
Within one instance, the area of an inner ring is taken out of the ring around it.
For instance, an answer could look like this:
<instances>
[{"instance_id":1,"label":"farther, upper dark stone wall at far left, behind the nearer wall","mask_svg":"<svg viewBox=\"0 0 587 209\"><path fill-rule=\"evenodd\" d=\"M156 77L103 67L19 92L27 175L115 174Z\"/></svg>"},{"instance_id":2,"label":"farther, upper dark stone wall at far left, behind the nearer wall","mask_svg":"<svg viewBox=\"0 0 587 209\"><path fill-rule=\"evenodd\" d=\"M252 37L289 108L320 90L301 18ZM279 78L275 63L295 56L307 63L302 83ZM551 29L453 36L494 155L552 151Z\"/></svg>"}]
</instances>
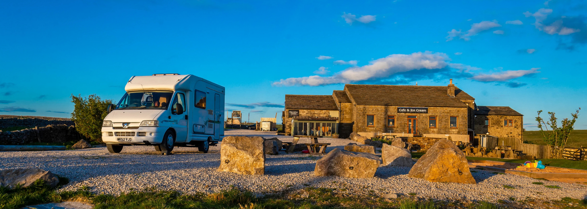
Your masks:
<instances>
[{"instance_id":1,"label":"farther, upper dark stone wall at far left, behind the nearer wall","mask_svg":"<svg viewBox=\"0 0 587 209\"><path fill-rule=\"evenodd\" d=\"M60 117L36 117L36 116L0 116L0 130L2 128L22 126L22 127L45 127L48 125L65 124L73 126L75 123L71 119Z\"/></svg>"}]
</instances>

